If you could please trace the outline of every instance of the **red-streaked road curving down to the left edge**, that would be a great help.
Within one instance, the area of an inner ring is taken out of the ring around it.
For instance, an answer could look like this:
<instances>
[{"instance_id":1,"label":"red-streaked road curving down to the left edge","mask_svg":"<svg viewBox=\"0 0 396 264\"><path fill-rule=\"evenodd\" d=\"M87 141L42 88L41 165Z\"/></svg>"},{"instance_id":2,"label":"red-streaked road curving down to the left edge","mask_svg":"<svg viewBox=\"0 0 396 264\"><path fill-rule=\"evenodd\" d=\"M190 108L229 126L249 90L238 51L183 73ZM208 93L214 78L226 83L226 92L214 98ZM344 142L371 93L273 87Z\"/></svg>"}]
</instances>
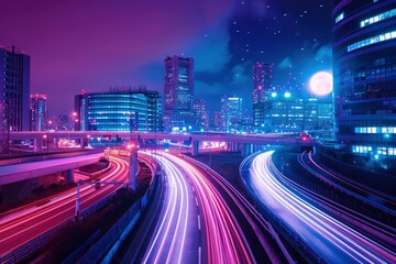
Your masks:
<instances>
[{"instance_id":1,"label":"red-streaked road curving down to the left edge","mask_svg":"<svg viewBox=\"0 0 396 264\"><path fill-rule=\"evenodd\" d=\"M101 180L127 182L128 162L111 157L111 169ZM113 194L120 185L105 185L100 189L90 185L80 187L80 209L95 205L106 196ZM76 213L76 188L46 198L35 204L0 215L0 256L20 245L68 221Z\"/></svg>"}]
</instances>

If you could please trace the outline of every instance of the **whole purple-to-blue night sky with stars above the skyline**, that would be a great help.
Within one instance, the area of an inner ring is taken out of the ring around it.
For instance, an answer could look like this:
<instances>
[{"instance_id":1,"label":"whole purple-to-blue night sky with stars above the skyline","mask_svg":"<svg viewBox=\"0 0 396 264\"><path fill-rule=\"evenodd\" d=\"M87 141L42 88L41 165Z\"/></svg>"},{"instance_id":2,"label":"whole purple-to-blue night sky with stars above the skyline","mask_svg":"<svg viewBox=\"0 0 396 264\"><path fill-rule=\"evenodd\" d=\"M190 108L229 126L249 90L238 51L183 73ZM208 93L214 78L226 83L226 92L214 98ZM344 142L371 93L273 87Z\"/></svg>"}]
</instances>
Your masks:
<instances>
[{"instance_id":1,"label":"whole purple-to-blue night sky with stars above the skyline","mask_svg":"<svg viewBox=\"0 0 396 264\"><path fill-rule=\"evenodd\" d=\"M328 0L12 0L0 10L0 45L31 56L31 94L50 114L74 96L146 85L163 92L163 59L195 58L195 97L220 110L223 95L251 103L252 65L275 64L307 81L331 69Z\"/></svg>"}]
</instances>

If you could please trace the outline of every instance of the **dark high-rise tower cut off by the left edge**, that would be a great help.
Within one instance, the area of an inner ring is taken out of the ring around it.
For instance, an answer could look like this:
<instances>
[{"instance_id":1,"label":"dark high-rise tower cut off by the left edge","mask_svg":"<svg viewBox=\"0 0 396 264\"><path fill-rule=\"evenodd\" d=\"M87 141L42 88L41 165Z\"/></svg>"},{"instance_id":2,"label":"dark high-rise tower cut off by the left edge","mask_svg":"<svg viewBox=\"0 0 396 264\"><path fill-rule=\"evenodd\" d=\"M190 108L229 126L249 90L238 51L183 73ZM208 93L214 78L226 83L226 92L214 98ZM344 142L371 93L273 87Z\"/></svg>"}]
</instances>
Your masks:
<instances>
[{"instance_id":1,"label":"dark high-rise tower cut off by the left edge","mask_svg":"<svg viewBox=\"0 0 396 264\"><path fill-rule=\"evenodd\" d=\"M0 47L2 131L30 130L30 56L14 46Z\"/></svg>"}]
</instances>

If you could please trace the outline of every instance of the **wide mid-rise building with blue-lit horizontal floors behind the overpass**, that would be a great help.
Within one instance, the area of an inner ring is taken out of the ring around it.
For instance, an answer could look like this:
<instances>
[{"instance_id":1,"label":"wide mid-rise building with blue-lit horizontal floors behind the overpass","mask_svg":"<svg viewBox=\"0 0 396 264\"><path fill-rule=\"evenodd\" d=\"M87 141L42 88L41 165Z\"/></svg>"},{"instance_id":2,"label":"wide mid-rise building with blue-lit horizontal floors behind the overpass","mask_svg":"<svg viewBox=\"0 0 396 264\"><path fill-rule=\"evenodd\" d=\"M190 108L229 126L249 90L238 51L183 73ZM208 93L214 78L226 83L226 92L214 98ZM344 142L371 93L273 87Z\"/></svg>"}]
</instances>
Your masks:
<instances>
[{"instance_id":1,"label":"wide mid-rise building with blue-lit horizontal floors behind the overpass","mask_svg":"<svg viewBox=\"0 0 396 264\"><path fill-rule=\"evenodd\" d=\"M81 131L162 131L157 91L113 89L75 97L75 129Z\"/></svg>"}]
</instances>

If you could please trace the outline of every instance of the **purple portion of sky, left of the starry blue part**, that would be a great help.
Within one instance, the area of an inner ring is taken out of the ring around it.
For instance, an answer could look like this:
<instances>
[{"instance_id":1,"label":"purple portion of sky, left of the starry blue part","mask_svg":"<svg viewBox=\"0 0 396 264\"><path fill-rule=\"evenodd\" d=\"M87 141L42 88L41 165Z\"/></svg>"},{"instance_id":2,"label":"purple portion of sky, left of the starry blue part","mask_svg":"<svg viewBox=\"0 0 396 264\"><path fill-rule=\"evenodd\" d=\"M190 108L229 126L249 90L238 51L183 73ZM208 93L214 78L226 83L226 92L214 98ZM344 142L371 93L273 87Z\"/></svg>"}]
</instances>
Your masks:
<instances>
[{"instance_id":1,"label":"purple portion of sky, left of the starry blue part","mask_svg":"<svg viewBox=\"0 0 396 264\"><path fill-rule=\"evenodd\" d=\"M31 56L31 92L46 94L52 114L73 111L74 95L110 86L162 90L166 55L187 55L222 23L230 0L12 0L0 9L0 45ZM155 86L155 87L154 87ZM157 87L161 86L161 87Z\"/></svg>"}]
</instances>

